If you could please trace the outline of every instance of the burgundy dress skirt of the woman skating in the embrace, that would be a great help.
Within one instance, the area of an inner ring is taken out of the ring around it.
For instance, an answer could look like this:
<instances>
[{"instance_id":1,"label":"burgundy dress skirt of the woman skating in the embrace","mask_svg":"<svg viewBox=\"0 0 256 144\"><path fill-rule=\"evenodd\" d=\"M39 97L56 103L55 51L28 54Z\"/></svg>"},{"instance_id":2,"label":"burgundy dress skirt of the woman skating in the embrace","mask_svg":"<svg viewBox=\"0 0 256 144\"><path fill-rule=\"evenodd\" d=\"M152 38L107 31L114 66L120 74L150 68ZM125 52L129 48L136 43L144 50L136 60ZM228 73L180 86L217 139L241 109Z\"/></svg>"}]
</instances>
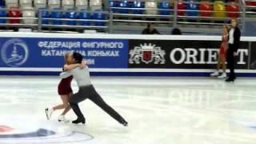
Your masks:
<instances>
[{"instance_id":1,"label":"burgundy dress skirt of the woman skating in the embrace","mask_svg":"<svg viewBox=\"0 0 256 144\"><path fill-rule=\"evenodd\" d=\"M59 95L66 95L73 92L71 88L71 81L73 76L68 78L62 78L61 82L58 83L58 94Z\"/></svg>"}]
</instances>

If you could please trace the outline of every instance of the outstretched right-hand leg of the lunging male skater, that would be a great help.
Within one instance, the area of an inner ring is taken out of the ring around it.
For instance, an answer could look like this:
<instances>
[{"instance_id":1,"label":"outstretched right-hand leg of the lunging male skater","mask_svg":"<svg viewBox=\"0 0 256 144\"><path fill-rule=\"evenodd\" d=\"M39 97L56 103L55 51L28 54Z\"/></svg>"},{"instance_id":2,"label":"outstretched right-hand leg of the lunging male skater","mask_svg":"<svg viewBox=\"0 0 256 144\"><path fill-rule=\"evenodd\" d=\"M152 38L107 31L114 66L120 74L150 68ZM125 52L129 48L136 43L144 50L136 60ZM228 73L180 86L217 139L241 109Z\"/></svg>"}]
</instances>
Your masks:
<instances>
[{"instance_id":1,"label":"outstretched right-hand leg of the lunging male skater","mask_svg":"<svg viewBox=\"0 0 256 144\"><path fill-rule=\"evenodd\" d=\"M124 118L122 118L122 116L120 114L118 114L118 112L116 112L112 107L110 107L108 104L106 104L106 102L104 102L102 97L97 93L97 91L94 89L93 86L92 86L91 93L92 93L92 95L90 95L89 99L92 102L94 102L96 105L101 107L102 110L104 110L107 114L110 114L110 116L112 118L114 118L118 122L122 123L124 126L127 126L126 120Z\"/></svg>"}]
</instances>

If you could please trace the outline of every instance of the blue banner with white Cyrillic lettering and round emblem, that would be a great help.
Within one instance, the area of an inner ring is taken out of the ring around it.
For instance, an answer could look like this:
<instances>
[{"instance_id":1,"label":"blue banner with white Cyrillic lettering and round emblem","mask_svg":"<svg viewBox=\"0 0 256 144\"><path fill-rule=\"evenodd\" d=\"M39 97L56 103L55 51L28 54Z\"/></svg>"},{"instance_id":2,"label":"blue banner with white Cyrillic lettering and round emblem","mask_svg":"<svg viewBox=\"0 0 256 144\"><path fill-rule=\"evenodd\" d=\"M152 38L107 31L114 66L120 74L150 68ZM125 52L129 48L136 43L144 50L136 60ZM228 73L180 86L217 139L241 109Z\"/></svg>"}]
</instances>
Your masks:
<instances>
[{"instance_id":1,"label":"blue banner with white Cyrillic lettering and round emblem","mask_svg":"<svg viewBox=\"0 0 256 144\"><path fill-rule=\"evenodd\" d=\"M68 51L82 54L90 67L128 67L128 40L122 39L1 38L0 47L0 67L61 67Z\"/></svg>"}]
</instances>

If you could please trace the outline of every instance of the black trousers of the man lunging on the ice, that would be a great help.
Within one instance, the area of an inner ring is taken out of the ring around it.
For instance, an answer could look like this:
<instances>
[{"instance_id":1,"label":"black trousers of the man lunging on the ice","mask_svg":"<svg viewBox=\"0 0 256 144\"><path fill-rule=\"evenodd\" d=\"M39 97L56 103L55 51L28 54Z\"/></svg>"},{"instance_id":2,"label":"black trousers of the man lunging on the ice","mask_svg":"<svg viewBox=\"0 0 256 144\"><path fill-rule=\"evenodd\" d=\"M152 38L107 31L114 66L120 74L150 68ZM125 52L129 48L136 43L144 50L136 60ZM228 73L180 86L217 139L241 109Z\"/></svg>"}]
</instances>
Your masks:
<instances>
[{"instance_id":1,"label":"black trousers of the man lunging on the ice","mask_svg":"<svg viewBox=\"0 0 256 144\"><path fill-rule=\"evenodd\" d=\"M117 120L118 122L124 122L124 118L120 114L118 114L112 107L106 104L102 97L97 93L94 89L94 86L83 86L80 87L77 94L74 94L70 98L70 106L74 110L74 114L78 116L78 119L83 119L84 116L78 106L78 102L84 101L86 98L89 98L92 102L102 108L107 114L110 114L112 118Z\"/></svg>"}]
</instances>

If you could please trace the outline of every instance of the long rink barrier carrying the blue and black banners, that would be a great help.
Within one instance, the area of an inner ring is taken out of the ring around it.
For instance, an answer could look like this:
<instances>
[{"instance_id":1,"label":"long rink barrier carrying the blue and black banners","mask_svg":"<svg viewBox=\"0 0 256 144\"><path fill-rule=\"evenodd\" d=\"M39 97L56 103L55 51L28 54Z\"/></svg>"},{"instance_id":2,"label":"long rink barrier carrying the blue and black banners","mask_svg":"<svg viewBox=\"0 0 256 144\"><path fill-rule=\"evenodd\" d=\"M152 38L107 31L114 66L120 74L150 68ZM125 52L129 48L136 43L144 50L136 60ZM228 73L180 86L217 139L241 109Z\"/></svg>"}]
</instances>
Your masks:
<instances>
[{"instance_id":1,"label":"long rink barrier carrying the blue and black banners","mask_svg":"<svg viewBox=\"0 0 256 144\"><path fill-rule=\"evenodd\" d=\"M0 34L1 75L58 75L67 51L81 53L97 76L209 76L219 36ZM256 76L256 38L242 37L238 76Z\"/></svg>"}]
</instances>

